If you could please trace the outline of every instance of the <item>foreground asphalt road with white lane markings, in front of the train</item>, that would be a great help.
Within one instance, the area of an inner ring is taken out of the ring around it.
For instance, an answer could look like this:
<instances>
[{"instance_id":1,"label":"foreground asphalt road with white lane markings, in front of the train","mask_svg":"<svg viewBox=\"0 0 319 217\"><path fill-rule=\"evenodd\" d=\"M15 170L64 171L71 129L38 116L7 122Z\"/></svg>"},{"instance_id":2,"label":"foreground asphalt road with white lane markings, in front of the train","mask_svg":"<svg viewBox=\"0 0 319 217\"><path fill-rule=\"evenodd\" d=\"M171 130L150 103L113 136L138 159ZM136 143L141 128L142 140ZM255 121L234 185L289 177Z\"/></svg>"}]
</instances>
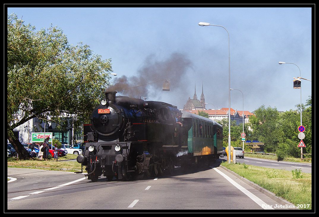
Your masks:
<instances>
[{"instance_id":1,"label":"foreground asphalt road with white lane markings, in front of the train","mask_svg":"<svg viewBox=\"0 0 319 217\"><path fill-rule=\"evenodd\" d=\"M7 210L206 210L225 213L227 210L264 210L270 207L286 209L285 204L278 207L278 202L219 167L220 162L189 168L187 173L176 168L174 176L128 182L115 179L109 182L103 176L97 182L91 182L83 174L8 168L8 177L16 180L7 184ZM46 207L43 208L43 204Z\"/></svg>"}]
</instances>

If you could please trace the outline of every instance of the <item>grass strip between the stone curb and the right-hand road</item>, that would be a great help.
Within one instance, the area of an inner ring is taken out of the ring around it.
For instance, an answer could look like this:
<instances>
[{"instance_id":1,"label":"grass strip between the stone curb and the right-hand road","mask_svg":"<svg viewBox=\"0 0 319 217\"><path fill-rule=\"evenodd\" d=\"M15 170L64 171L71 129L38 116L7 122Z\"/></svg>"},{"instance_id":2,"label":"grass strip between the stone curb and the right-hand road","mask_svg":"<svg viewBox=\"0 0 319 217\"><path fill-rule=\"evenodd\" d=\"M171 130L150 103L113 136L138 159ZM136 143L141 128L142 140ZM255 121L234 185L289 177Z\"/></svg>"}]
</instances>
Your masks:
<instances>
[{"instance_id":1,"label":"grass strip between the stone curb and the right-hand road","mask_svg":"<svg viewBox=\"0 0 319 217\"><path fill-rule=\"evenodd\" d=\"M311 209L311 174L242 164L221 164L238 175L286 199L300 209ZM301 207L306 205L306 207ZM308 207L309 204L309 207Z\"/></svg>"}]
</instances>

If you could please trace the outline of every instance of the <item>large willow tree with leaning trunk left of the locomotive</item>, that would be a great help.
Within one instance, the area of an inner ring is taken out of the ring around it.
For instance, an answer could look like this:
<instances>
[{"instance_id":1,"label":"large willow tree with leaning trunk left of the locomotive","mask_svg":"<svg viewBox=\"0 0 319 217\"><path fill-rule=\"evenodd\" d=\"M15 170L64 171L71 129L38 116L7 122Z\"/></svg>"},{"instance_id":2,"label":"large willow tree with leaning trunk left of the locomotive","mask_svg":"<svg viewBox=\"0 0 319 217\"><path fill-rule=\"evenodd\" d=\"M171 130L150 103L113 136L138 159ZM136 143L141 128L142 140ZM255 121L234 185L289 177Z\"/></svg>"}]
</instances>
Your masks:
<instances>
[{"instance_id":1,"label":"large willow tree with leaning trunk left of the locomotive","mask_svg":"<svg viewBox=\"0 0 319 217\"><path fill-rule=\"evenodd\" d=\"M7 21L7 136L19 158L27 159L13 129L34 117L63 123L60 117L72 116L79 126L109 86L111 60L88 45L70 45L57 27L35 31L15 14Z\"/></svg>"}]
</instances>

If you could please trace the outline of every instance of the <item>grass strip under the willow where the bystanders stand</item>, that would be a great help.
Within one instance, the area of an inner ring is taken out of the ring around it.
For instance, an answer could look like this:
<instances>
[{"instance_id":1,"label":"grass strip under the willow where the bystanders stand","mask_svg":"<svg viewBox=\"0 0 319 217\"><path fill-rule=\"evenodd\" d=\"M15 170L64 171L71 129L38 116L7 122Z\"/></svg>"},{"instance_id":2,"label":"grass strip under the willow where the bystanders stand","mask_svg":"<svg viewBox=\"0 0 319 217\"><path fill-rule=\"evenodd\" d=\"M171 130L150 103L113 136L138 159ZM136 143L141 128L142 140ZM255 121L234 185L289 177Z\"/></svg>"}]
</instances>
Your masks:
<instances>
[{"instance_id":1,"label":"grass strip under the willow where the bystanders stand","mask_svg":"<svg viewBox=\"0 0 319 217\"><path fill-rule=\"evenodd\" d=\"M65 157L59 157L58 161L54 161L53 158L50 158L48 161L44 161L39 159L17 160L13 157L8 157L8 167L78 172L81 171L81 164L77 161L63 161L76 158L77 155L73 154L67 154Z\"/></svg>"}]
</instances>

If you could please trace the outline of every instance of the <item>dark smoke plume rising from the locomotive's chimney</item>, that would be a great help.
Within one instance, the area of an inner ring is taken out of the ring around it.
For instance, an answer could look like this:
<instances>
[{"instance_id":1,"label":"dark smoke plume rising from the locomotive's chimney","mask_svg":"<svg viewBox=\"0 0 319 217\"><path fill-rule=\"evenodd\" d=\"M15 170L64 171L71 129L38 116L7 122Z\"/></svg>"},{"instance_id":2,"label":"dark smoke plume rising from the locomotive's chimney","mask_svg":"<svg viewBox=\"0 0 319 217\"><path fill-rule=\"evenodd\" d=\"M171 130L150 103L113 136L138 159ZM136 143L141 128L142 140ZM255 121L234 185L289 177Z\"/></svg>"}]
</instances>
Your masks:
<instances>
[{"instance_id":1,"label":"dark smoke plume rising from the locomotive's chimney","mask_svg":"<svg viewBox=\"0 0 319 217\"><path fill-rule=\"evenodd\" d=\"M117 91L121 95L134 98L141 96L149 98L158 96L162 91L164 80L167 80L170 82L171 91L178 90L185 94L188 86L186 73L189 68L192 68L192 63L184 54L173 53L167 60L163 61L150 55L145 60L144 66L137 71L136 76L123 75L115 78L114 85L109 87L107 91ZM186 101L188 96L181 97L185 98Z\"/></svg>"}]
</instances>

